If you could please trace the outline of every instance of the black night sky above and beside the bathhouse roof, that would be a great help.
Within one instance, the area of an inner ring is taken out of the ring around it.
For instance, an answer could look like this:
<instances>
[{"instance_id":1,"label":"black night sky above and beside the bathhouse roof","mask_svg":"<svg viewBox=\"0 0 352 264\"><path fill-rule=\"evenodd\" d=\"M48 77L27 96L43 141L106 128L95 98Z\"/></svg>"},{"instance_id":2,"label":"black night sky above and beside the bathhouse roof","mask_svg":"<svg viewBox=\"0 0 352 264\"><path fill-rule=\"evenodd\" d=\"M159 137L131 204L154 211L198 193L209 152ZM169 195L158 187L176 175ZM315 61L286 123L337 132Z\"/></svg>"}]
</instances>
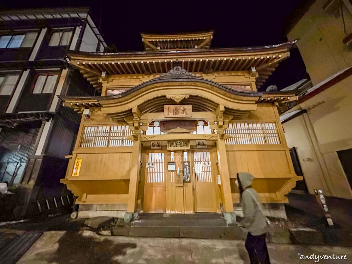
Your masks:
<instances>
[{"instance_id":1,"label":"black night sky above and beside the bathhouse roof","mask_svg":"<svg viewBox=\"0 0 352 264\"><path fill-rule=\"evenodd\" d=\"M143 50L140 32L182 33L214 31L212 48L262 46L286 42L290 15L304 0L289 1L0 1L1 9L90 7L108 44L118 51ZM306 77L297 48L279 64L260 90L279 89Z\"/></svg>"}]
</instances>

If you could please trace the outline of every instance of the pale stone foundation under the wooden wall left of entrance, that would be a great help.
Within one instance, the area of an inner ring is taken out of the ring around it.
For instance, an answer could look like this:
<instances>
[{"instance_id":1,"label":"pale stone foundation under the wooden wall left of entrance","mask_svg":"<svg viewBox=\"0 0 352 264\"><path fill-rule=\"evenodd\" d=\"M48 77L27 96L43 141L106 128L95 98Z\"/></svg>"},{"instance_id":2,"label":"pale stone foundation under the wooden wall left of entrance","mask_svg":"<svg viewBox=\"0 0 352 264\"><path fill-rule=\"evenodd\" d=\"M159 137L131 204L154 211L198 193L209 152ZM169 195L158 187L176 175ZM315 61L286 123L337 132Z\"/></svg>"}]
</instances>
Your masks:
<instances>
[{"instance_id":1,"label":"pale stone foundation under the wooden wall left of entrance","mask_svg":"<svg viewBox=\"0 0 352 264\"><path fill-rule=\"evenodd\" d=\"M124 218L126 210L126 203L80 205L78 208L77 218L93 218L96 216L111 216L116 218Z\"/></svg>"}]
</instances>

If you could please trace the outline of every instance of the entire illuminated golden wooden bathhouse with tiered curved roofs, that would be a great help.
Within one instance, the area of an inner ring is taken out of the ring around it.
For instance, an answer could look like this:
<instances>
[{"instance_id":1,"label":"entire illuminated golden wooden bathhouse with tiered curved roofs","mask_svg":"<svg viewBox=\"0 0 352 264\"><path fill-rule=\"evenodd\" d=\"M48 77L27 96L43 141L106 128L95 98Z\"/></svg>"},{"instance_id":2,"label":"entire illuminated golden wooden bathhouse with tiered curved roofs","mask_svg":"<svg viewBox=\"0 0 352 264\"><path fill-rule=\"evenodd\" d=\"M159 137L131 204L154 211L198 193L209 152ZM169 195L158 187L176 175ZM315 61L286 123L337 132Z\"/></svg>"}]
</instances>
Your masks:
<instances>
[{"instance_id":1,"label":"entire illuminated golden wooden bathhouse with tiered curved roofs","mask_svg":"<svg viewBox=\"0 0 352 264\"><path fill-rule=\"evenodd\" d=\"M210 49L212 33L203 35L144 34L144 52L69 54L101 92L60 97L83 113L62 180L82 208L232 213L239 171L256 177L262 202L287 201L300 177L276 107L296 96L257 87L295 42Z\"/></svg>"}]
</instances>

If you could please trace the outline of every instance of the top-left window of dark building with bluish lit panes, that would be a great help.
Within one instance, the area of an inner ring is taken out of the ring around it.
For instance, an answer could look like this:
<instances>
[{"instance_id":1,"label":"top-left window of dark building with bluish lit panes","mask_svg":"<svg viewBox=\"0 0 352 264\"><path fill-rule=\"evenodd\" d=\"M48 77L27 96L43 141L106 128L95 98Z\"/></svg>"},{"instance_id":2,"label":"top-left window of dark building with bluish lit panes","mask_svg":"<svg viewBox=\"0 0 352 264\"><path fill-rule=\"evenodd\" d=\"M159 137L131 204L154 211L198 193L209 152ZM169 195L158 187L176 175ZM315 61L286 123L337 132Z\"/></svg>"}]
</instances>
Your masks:
<instances>
[{"instance_id":1,"label":"top-left window of dark building with bluish lit panes","mask_svg":"<svg viewBox=\"0 0 352 264\"><path fill-rule=\"evenodd\" d=\"M32 47L38 32L27 32L25 34L7 35L0 37L0 49L28 48Z\"/></svg>"}]
</instances>

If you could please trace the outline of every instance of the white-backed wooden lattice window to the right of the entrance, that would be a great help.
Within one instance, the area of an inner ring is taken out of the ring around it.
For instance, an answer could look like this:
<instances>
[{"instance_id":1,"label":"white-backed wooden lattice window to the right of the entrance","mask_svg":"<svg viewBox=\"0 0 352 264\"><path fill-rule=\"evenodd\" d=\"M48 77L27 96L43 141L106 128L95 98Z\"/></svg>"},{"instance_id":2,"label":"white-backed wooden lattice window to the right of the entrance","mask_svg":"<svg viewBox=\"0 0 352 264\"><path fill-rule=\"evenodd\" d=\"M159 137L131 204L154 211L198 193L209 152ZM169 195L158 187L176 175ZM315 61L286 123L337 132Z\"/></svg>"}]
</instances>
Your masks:
<instances>
[{"instance_id":1,"label":"white-backed wooden lattice window to the right of the entrance","mask_svg":"<svg viewBox=\"0 0 352 264\"><path fill-rule=\"evenodd\" d=\"M233 123L228 124L226 145L280 144L275 123Z\"/></svg>"}]
</instances>

